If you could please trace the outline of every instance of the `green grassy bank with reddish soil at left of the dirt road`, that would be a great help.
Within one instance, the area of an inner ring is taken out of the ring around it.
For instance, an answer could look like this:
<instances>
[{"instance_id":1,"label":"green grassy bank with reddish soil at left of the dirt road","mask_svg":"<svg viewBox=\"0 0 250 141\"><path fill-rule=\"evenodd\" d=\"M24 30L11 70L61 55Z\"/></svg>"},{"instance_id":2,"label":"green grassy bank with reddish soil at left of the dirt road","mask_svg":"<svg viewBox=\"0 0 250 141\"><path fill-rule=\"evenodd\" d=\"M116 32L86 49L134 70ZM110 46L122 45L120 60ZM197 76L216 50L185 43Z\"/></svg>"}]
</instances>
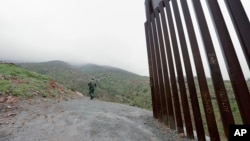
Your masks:
<instances>
[{"instance_id":1,"label":"green grassy bank with reddish soil at left of the dirt road","mask_svg":"<svg viewBox=\"0 0 250 141\"><path fill-rule=\"evenodd\" d=\"M0 86L2 96L60 98L73 94L72 91L57 84L47 75L2 62L0 62Z\"/></svg>"}]
</instances>

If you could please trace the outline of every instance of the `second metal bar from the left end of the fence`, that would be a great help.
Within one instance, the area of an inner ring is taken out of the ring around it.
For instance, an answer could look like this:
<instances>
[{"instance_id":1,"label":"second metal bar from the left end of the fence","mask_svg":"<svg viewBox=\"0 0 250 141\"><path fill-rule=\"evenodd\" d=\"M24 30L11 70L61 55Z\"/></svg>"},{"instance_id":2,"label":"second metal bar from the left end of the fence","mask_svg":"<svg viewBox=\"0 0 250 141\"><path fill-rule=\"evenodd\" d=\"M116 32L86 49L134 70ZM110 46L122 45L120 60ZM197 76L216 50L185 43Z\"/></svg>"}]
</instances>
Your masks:
<instances>
[{"instance_id":1,"label":"second metal bar from the left end of the fence","mask_svg":"<svg viewBox=\"0 0 250 141\"><path fill-rule=\"evenodd\" d=\"M158 74L157 74L157 62L155 59L155 53L154 53L154 41L153 41L153 34L152 34L152 25L151 21L148 22L148 35L149 35L149 43L150 43L150 54L152 59L152 73L153 73L153 81L154 81L154 89L155 89L155 102L156 102L156 118L159 120L162 120L162 107L161 107L161 99L160 99L160 90L159 90L159 80L158 80Z\"/></svg>"}]
</instances>

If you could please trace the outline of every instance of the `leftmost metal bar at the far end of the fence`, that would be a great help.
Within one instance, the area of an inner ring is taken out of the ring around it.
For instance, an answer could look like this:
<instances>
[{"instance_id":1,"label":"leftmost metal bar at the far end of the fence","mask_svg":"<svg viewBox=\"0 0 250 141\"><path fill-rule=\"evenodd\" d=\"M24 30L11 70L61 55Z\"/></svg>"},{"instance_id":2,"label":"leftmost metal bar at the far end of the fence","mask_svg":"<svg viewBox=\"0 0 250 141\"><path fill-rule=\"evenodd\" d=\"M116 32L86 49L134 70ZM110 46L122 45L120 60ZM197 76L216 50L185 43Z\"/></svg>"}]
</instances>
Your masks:
<instances>
[{"instance_id":1,"label":"leftmost metal bar at the far end of the fence","mask_svg":"<svg viewBox=\"0 0 250 141\"><path fill-rule=\"evenodd\" d=\"M157 107L156 107L156 101L155 101L155 85L153 81L153 68L152 68L152 56L150 52L150 41L149 41L149 35L148 35L148 22L145 22L145 35L146 35L146 45L147 45L147 54L148 54L148 66L149 66L149 81L150 81L150 88L151 88L151 97L152 97L152 109L153 109L153 116L154 118L157 118Z\"/></svg>"}]
</instances>

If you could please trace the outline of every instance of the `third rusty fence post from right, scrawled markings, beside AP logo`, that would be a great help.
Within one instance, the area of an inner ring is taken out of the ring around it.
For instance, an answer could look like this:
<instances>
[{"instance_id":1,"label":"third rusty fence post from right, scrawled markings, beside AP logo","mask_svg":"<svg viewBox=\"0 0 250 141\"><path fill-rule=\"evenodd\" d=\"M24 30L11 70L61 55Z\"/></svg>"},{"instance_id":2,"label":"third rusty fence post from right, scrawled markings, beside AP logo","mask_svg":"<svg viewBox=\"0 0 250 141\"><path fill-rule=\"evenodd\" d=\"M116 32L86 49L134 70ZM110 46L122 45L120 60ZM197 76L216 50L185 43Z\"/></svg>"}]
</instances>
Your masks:
<instances>
[{"instance_id":1,"label":"third rusty fence post from right, scrawled markings, beside AP logo","mask_svg":"<svg viewBox=\"0 0 250 141\"><path fill-rule=\"evenodd\" d=\"M224 132L226 136L228 136L229 124L233 124L234 119L229 105L227 92L224 85L224 80L222 78L217 56L214 50L211 36L209 34L208 25L206 23L201 3L199 0L194 0L193 4L194 4L194 9L196 11L197 20L200 26L200 31L202 34L206 55L209 61L210 72L213 80L215 94L217 97L217 102L219 105L220 114L222 117Z\"/></svg>"}]
</instances>

